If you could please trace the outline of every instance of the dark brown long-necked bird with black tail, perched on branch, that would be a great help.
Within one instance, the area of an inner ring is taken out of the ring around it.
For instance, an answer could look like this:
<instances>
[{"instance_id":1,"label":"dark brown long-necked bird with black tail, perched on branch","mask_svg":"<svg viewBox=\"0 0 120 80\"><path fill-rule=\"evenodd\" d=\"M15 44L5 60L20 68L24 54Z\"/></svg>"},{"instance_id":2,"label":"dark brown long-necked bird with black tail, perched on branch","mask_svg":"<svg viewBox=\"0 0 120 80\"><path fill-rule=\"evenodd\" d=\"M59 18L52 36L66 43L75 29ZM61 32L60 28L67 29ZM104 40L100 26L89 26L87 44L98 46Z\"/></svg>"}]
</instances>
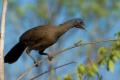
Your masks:
<instances>
[{"instance_id":1,"label":"dark brown long-necked bird with black tail, perched on branch","mask_svg":"<svg viewBox=\"0 0 120 80\"><path fill-rule=\"evenodd\" d=\"M83 20L71 19L60 24L59 27L42 25L26 31L20 37L19 42L7 53L4 62L14 63L25 49L27 53L30 53L31 50L37 50L39 54L46 55L44 50L56 43L61 35L73 27L85 29Z\"/></svg>"}]
</instances>

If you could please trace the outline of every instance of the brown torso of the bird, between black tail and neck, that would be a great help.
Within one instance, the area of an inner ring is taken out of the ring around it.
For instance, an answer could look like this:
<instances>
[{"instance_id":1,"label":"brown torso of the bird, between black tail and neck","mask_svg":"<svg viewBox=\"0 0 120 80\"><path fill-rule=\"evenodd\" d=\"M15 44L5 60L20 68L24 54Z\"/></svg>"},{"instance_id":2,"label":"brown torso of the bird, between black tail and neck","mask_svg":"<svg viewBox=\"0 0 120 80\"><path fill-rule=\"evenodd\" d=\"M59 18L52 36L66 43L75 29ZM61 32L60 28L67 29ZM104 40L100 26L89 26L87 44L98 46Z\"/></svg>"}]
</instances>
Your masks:
<instances>
[{"instance_id":1,"label":"brown torso of the bird, between black tail and neck","mask_svg":"<svg viewBox=\"0 0 120 80\"><path fill-rule=\"evenodd\" d=\"M56 41L56 35L56 27L53 25L43 25L23 33L20 37L20 42L29 46L38 43L44 43L43 45L49 46Z\"/></svg>"}]
</instances>

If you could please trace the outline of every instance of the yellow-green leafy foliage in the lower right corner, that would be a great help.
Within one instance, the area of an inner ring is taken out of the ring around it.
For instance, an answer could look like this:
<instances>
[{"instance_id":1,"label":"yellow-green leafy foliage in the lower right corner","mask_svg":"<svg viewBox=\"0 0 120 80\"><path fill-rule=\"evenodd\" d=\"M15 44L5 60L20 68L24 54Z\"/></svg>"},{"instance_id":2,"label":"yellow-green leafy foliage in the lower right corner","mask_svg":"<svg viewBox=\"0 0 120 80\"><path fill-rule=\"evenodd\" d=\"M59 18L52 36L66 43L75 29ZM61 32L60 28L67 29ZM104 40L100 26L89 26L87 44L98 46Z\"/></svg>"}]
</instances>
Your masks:
<instances>
[{"instance_id":1,"label":"yellow-green leafy foliage in the lower right corner","mask_svg":"<svg viewBox=\"0 0 120 80\"><path fill-rule=\"evenodd\" d=\"M98 61L90 61L87 65L80 64L77 66L76 75L79 80L83 80L86 75L88 78L98 76L98 79L102 80L102 76L99 74L100 65L107 65L106 69L114 72L114 63L120 60L120 32L116 34L116 37L118 40L112 43L112 47L100 47L98 49L98 54L101 55ZM72 76L67 75L64 80L72 80Z\"/></svg>"}]
</instances>

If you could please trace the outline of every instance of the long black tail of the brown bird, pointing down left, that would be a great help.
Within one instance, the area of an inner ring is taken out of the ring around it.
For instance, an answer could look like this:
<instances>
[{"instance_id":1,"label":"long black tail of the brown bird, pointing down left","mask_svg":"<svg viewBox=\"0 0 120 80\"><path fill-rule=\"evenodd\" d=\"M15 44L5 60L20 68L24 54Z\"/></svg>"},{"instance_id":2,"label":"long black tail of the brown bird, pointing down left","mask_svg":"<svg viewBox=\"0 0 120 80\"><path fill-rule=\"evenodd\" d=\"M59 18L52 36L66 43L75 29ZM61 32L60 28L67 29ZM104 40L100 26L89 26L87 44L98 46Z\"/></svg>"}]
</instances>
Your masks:
<instances>
[{"instance_id":1,"label":"long black tail of the brown bird, pointing down left","mask_svg":"<svg viewBox=\"0 0 120 80\"><path fill-rule=\"evenodd\" d=\"M22 55L23 51L25 50L26 46L21 42L17 43L5 56L4 62L5 63L14 63L18 60L18 58Z\"/></svg>"}]
</instances>

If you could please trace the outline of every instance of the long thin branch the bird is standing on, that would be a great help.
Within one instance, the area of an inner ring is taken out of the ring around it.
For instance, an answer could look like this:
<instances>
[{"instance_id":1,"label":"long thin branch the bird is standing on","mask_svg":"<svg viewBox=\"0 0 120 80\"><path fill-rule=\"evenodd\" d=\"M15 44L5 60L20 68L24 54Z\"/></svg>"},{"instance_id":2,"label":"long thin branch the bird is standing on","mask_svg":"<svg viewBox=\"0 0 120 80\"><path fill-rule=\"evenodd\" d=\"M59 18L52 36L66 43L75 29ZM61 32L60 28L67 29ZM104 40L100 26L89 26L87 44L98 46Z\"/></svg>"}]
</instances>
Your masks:
<instances>
[{"instance_id":1,"label":"long thin branch the bird is standing on","mask_svg":"<svg viewBox=\"0 0 120 80\"><path fill-rule=\"evenodd\" d=\"M58 52L54 53L54 54L53 54L53 58L54 58L55 56L57 56L57 55L65 52L65 51L68 51L68 50L70 50L70 49L73 49L73 48L76 48L76 47L80 47L80 46L83 46L83 45L96 44L96 43L101 43L101 42L118 41L118 40L119 40L119 39L109 39L109 40L101 40L101 41L86 42L86 43L81 43L81 41L78 41L77 44L75 43L73 46L71 46L71 47L69 47L69 48L66 48L66 49L64 49L64 50L61 50L61 51L58 51ZM47 59L48 59L48 57L43 58L41 61L38 60L38 61L39 61L39 64L42 63L42 62L44 62L44 61L47 60ZM36 67L36 66L33 65L30 69L32 70L32 68L34 68L34 67ZM30 69L28 69L28 70L26 71L27 73L23 73L22 76L20 76L21 79L23 79L23 78L29 73L29 70L30 70ZM45 73L46 73L46 72L41 73L41 75L42 75L42 74L45 74ZM19 80L21 80L21 79L19 79Z\"/></svg>"}]
</instances>

